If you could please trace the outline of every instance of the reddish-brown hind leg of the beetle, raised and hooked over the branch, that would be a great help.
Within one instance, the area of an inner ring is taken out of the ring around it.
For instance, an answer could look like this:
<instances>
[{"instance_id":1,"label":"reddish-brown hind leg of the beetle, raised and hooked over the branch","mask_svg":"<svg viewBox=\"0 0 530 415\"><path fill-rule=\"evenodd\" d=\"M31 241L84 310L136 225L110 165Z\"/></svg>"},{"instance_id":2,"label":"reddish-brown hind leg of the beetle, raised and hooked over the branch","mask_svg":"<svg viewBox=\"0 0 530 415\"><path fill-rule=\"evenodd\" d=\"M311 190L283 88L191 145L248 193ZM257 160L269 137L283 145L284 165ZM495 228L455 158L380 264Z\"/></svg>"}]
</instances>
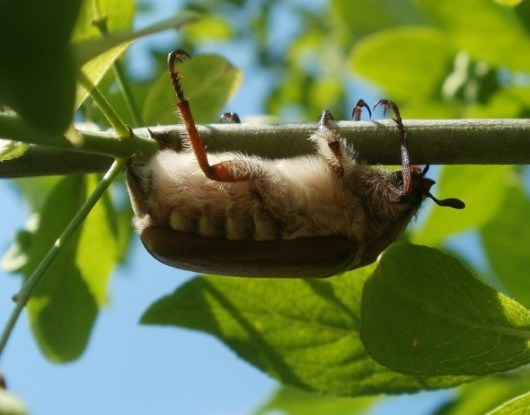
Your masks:
<instances>
[{"instance_id":1,"label":"reddish-brown hind leg of the beetle, raised and hooked over the branch","mask_svg":"<svg viewBox=\"0 0 530 415\"><path fill-rule=\"evenodd\" d=\"M182 121L188 132L188 138L199 163L199 167L204 172L206 177L212 180L221 182L237 182L253 180L263 175L263 169L259 164L252 163L245 160L224 161L218 164L210 165L208 156L206 155L206 148L201 140L197 126L191 113L190 103L184 97L182 89L181 71L175 69L175 62L182 62L183 58L191 58L190 55L181 49L171 52L167 57L167 64L173 90L177 96L177 107L179 109Z\"/></svg>"}]
</instances>

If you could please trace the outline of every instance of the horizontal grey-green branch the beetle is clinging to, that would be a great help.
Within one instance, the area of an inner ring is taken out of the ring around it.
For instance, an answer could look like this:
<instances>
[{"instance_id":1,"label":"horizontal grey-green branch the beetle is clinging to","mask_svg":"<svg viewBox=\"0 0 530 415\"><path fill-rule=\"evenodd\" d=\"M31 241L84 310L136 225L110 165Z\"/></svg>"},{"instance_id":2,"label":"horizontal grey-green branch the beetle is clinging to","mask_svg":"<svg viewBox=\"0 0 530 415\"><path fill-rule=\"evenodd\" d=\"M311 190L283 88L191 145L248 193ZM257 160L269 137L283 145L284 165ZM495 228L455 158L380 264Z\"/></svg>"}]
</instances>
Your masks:
<instances>
[{"instance_id":1,"label":"horizontal grey-green branch the beetle is clinging to","mask_svg":"<svg viewBox=\"0 0 530 415\"><path fill-rule=\"evenodd\" d=\"M411 161L416 164L530 163L530 120L408 120L404 124ZM340 121L335 126L368 163L400 164L398 132L392 120ZM41 133L28 131L27 125L10 127L5 128L0 119L0 136L30 143L42 141ZM307 137L316 127L316 123L207 124L199 126L199 133L211 152L241 151L279 158L312 152L314 147ZM168 132L175 143L184 133L180 125L151 129ZM145 128L134 130L133 138L121 140L110 133L80 134L78 147L64 137L48 137L46 147L32 146L23 157L0 163L0 177L104 171L110 165L109 157L133 153L148 157L157 149Z\"/></svg>"}]
</instances>

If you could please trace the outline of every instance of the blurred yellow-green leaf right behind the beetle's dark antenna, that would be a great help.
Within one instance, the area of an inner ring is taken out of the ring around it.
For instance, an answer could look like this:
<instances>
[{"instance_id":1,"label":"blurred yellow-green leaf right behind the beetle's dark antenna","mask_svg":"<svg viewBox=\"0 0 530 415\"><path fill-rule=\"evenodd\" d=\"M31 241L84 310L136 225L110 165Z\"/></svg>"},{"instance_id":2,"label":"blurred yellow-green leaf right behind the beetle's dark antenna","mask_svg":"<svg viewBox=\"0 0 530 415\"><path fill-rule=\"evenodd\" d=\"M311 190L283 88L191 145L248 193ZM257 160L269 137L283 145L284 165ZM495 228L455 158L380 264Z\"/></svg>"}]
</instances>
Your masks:
<instances>
[{"instance_id":1,"label":"blurred yellow-green leaf right behind the beetle's dark antenna","mask_svg":"<svg viewBox=\"0 0 530 415\"><path fill-rule=\"evenodd\" d=\"M466 208L444 209L433 206L424 225L412 241L440 244L448 236L480 228L501 212L506 197L506 182L511 166L447 166L432 192L439 198L458 197Z\"/></svg>"}]
</instances>

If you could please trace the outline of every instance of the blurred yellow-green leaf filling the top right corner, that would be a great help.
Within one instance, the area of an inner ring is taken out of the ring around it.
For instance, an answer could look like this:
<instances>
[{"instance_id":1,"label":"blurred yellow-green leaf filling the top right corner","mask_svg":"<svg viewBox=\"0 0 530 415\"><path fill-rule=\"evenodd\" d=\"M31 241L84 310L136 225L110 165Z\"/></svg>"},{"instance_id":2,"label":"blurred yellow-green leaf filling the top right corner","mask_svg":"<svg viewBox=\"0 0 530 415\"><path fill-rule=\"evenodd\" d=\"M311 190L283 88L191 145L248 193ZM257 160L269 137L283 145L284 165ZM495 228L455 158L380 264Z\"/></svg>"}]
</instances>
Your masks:
<instances>
[{"instance_id":1,"label":"blurred yellow-green leaf filling the top right corner","mask_svg":"<svg viewBox=\"0 0 530 415\"><path fill-rule=\"evenodd\" d=\"M445 29L448 43L493 66L530 71L528 57L514 50L530 49L530 36L516 8L483 0L418 0L417 4Z\"/></svg>"}]
</instances>

